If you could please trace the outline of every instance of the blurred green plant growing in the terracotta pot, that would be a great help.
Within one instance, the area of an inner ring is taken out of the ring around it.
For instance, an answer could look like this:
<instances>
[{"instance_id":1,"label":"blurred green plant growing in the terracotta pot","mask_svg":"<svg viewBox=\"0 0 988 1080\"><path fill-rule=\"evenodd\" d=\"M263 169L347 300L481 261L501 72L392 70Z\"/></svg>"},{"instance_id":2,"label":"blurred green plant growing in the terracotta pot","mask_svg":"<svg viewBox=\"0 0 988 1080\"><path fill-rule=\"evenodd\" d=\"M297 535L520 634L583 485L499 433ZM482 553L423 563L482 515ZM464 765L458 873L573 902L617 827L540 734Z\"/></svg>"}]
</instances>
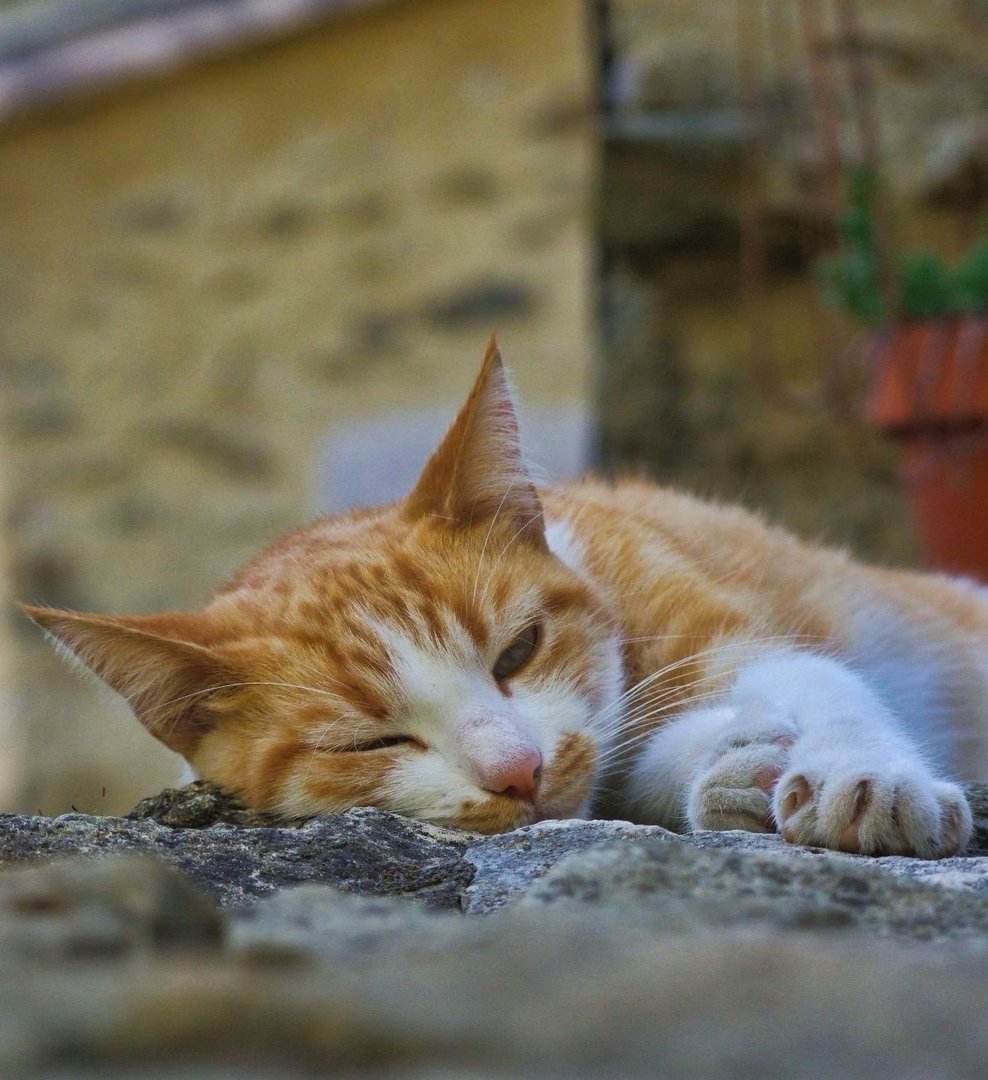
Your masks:
<instances>
[{"instance_id":1,"label":"blurred green plant growing in the terracotta pot","mask_svg":"<svg viewBox=\"0 0 988 1080\"><path fill-rule=\"evenodd\" d=\"M820 262L824 302L871 329L890 318L937 319L988 312L988 219L985 234L950 266L933 252L904 256L883 295L871 213L876 197L865 168L850 175L850 201L838 222L838 251Z\"/></svg>"}]
</instances>

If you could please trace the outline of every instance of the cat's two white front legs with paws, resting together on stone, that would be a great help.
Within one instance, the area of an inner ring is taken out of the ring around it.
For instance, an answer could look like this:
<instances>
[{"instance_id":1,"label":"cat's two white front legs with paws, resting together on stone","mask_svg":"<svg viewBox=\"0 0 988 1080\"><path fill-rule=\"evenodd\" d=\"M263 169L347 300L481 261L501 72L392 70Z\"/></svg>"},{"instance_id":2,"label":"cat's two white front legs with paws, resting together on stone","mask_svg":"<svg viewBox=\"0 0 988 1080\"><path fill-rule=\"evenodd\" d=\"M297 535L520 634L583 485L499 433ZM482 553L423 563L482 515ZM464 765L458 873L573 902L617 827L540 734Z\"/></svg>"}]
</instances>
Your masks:
<instances>
[{"instance_id":1,"label":"cat's two white front legs with paws, resting together on stone","mask_svg":"<svg viewBox=\"0 0 988 1080\"><path fill-rule=\"evenodd\" d=\"M653 820L673 820L678 802L691 828L777 826L838 850L938 858L971 835L961 789L934 774L865 680L810 653L745 665L721 708L684 713L652 737L632 786Z\"/></svg>"}]
</instances>

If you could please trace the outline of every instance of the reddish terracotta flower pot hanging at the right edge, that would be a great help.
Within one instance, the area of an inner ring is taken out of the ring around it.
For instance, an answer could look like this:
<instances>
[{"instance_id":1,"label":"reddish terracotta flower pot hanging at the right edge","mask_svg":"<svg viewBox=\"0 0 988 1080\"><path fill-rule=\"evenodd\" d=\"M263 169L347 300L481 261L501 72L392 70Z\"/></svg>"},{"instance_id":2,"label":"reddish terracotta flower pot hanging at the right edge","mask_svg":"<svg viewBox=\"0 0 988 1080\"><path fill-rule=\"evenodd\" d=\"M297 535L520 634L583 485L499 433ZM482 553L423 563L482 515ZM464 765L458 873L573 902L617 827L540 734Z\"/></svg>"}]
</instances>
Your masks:
<instances>
[{"instance_id":1,"label":"reddish terracotta flower pot hanging at the right edge","mask_svg":"<svg viewBox=\"0 0 988 1080\"><path fill-rule=\"evenodd\" d=\"M926 559L988 582L988 318L905 322L871 345L865 417L902 447Z\"/></svg>"}]
</instances>

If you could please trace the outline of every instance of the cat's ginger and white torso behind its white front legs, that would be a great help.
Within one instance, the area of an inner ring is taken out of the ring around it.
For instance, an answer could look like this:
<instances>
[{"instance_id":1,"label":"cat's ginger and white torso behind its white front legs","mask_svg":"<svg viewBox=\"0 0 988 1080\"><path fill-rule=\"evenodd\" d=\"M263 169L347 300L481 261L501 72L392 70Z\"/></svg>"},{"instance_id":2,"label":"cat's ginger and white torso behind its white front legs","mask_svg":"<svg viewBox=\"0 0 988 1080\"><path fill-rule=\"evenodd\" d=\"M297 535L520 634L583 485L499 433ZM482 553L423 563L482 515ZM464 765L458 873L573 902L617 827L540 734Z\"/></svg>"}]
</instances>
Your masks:
<instances>
[{"instance_id":1,"label":"cat's ginger and white torso behind its white front legs","mask_svg":"<svg viewBox=\"0 0 988 1080\"><path fill-rule=\"evenodd\" d=\"M967 733L972 775L988 775L988 590L866 566L741 508L644 483L567 485L544 502L551 545L555 535L641 643L626 653L636 676L725 637L822 647L867 673L916 731L950 717Z\"/></svg>"}]
</instances>

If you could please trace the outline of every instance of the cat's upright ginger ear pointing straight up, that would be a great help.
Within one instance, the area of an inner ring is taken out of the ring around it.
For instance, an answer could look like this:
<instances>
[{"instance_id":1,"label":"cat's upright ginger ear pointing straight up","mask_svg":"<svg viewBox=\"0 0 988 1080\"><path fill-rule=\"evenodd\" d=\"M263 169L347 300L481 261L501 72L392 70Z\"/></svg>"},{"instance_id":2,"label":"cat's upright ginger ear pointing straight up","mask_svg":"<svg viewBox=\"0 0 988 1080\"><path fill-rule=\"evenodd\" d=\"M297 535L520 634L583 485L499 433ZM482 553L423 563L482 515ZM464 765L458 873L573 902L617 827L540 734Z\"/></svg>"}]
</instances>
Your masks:
<instances>
[{"instance_id":1,"label":"cat's upright ginger ear pointing straight up","mask_svg":"<svg viewBox=\"0 0 988 1080\"><path fill-rule=\"evenodd\" d=\"M473 390L405 502L410 517L464 525L504 521L519 540L545 546L542 504L522 457L518 418L491 335Z\"/></svg>"}]
</instances>

